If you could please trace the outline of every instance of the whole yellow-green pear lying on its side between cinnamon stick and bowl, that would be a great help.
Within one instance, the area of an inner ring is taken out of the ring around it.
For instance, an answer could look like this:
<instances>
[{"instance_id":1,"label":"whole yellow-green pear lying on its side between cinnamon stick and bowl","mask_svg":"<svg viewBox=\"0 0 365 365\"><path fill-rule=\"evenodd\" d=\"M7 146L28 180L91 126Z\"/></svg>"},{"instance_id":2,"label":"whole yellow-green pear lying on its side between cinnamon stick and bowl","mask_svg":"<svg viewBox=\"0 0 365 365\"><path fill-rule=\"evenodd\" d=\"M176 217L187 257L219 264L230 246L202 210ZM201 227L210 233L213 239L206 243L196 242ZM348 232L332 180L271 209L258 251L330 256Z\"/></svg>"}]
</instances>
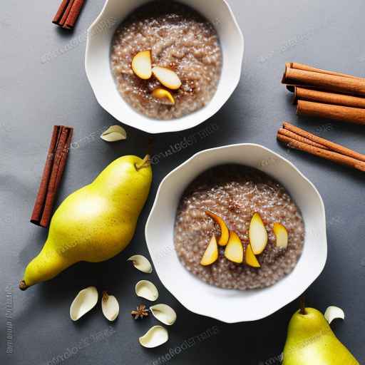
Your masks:
<instances>
[{"instance_id":1,"label":"whole yellow-green pear lying on its side between cinnamon stick and bowl","mask_svg":"<svg viewBox=\"0 0 365 365\"><path fill-rule=\"evenodd\" d=\"M79 261L100 262L132 240L152 182L149 158L128 155L68 195L54 213L43 249L26 267L24 290Z\"/></svg>"}]
</instances>

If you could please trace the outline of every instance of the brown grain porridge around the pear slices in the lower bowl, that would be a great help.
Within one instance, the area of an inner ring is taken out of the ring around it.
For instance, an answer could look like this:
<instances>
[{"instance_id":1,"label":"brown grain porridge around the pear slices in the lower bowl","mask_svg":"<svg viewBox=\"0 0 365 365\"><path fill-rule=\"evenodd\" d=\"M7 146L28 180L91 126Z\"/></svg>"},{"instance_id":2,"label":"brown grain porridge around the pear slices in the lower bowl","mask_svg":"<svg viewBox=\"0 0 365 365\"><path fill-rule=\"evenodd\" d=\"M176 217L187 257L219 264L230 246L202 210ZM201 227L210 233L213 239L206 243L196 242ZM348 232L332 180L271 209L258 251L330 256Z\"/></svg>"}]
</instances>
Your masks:
<instances>
[{"instance_id":1,"label":"brown grain porridge around the pear slices in the lower bowl","mask_svg":"<svg viewBox=\"0 0 365 365\"><path fill-rule=\"evenodd\" d=\"M219 247L217 261L202 266L200 259L212 235L220 236L219 226L205 215L209 210L225 220L248 244L248 228L252 215L262 217L268 243L257 255L261 267L235 264ZM276 247L274 222L287 228L288 246ZM304 222L297 205L285 188L268 175L242 165L220 165L198 176L185 190L175 218L175 250L187 270L203 281L227 289L269 287L292 272L302 254Z\"/></svg>"}]
</instances>

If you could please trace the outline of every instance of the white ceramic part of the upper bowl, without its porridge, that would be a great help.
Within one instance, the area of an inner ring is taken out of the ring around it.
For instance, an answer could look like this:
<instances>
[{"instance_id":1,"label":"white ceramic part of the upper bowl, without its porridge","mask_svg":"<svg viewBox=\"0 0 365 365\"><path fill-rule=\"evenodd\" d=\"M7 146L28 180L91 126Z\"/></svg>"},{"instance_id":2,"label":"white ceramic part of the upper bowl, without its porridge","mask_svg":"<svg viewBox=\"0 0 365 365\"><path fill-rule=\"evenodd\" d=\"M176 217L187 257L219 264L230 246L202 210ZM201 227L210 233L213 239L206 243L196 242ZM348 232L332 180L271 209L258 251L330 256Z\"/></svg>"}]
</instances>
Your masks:
<instances>
[{"instance_id":1,"label":"white ceramic part of the upper bowl, without its porridge","mask_svg":"<svg viewBox=\"0 0 365 365\"><path fill-rule=\"evenodd\" d=\"M115 29L138 6L148 0L106 0L101 14L88 29L86 75L98 103L120 122L148 133L175 132L195 127L217 113L240 81L244 50L243 36L225 0L180 0L199 11L217 29L223 66L215 96L204 108L173 120L155 120L137 113L118 93L110 71L110 42Z\"/></svg>"}]
</instances>

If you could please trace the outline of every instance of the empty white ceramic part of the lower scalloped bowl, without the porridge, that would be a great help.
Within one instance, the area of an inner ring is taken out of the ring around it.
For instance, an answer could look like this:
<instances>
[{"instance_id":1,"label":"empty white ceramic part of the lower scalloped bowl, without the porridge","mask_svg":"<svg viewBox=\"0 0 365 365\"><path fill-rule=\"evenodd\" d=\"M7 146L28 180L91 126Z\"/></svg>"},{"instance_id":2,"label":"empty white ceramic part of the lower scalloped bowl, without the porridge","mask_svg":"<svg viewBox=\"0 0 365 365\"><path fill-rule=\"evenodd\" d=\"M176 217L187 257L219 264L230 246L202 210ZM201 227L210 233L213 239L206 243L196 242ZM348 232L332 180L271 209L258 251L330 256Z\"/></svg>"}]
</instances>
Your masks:
<instances>
[{"instance_id":1,"label":"empty white ceramic part of the lower scalloped bowl, without the porridge","mask_svg":"<svg viewBox=\"0 0 365 365\"><path fill-rule=\"evenodd\" d=\"M176 209L187 185L215 165L239 163L258 168L282 183L302 211L305 240L294 270L265 289L220 289L190 274L173 244ZM190 311L227 323L262 319L300 296L319 276L327 259L326 219L322 197L288 160L255 144L204 150L169 173L160 184L145 227L145 238L158 277Z\"/></svg>"}]
</instances>

